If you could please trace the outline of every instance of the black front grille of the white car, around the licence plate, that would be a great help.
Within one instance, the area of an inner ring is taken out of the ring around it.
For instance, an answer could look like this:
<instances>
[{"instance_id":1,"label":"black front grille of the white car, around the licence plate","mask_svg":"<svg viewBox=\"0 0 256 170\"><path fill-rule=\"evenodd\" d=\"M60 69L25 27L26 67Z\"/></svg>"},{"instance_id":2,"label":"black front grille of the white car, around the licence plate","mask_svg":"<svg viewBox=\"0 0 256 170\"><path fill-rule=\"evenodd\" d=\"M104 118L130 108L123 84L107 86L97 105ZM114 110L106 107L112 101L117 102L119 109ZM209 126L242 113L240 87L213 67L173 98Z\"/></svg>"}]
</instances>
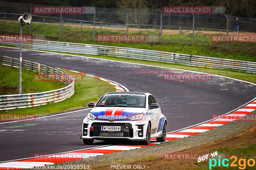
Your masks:
<instances>
[{"instance_id":1,"label":"black front grille of the white car, around the licence plate","mask_svg":"<svg viewBox=\"0 0 256 170\"><path fill-rule=\"evenodd\" d=\"M121 126L121 131L101 131L101 126ZM90 137L133 137L132 125L129 123L92 123ZM128 127L128 128L126 128Z\"/></svg>"}]
</instances>

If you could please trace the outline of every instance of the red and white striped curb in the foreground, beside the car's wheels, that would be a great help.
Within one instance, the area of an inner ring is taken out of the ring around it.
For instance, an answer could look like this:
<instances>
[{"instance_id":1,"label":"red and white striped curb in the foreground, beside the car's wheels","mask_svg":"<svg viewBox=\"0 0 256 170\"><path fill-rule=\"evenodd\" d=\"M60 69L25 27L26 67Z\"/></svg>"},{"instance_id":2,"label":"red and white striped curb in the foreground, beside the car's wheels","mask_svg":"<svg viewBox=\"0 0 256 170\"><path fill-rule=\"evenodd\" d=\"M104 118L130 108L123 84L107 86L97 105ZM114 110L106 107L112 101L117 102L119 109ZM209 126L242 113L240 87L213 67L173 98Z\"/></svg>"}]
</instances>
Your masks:
<instances>
[{"instance_id":1,"label":"red and white striped curb in the foreground, beside the car's wheels","mask_svg":"<svg viewBox=\"0 0 256 170\"><path fill-rule=\"evenodd\" d=\"M96 77L96 76L95 76ZM119 86L120 87L120 86ZM218 117L214 120L210 120L205 122L204 124L196 125L194 127L190 127L188 129L184 129L181 131L172 132L166 135L166 142L172 141L179 138L185 138L191 135L196 135L199 133L203 133L205 131L209 131L216 127L222 126L224 124L228 124L234 120L237 120L241 117L244 117L254 111L256 109L256 100L253 102L237 109L225 116ZM156 138L150 139L150 145L160 144L160 142L156 142ZM79 160L79 159L86 159L89 157L100 156L103 154L109 154L113 152L124 152L131 149L138 149L141 147L147 147L145 145L110 145L110 146L103 146L93 149L81 150L76 152L69 152L63 154L56 154L51 156L44 156L26 160L18 160L12 162L5 162L0 163L0 170L7 170L8 168L3 167L12 167L12 169L21 169L21 168L33 168L36 166L47 166L53 165L55 163L62 163L64 161L72 161L72 160Z\"/></svg>"}]
</instances>

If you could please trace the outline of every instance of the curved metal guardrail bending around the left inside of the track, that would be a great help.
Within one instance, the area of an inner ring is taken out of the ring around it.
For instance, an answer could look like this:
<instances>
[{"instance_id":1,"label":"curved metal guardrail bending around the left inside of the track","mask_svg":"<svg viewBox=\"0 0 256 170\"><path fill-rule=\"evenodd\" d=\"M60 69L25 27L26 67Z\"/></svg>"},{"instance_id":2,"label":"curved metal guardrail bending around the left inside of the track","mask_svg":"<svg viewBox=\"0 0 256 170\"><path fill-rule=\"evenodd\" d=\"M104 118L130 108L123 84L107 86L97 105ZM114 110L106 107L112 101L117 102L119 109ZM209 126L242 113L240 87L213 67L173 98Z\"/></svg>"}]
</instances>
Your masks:
<instances>
[{"instance_id":1,"label":"curved metal guardrail bending around the left inside of the track","mask_svg":"<svg viewBox=\"0 0 256 170\"><path fill-rule=\"evenodd\" d=\"M0 65L19 67L19 62L20 58L0 54ZM29 60L22 60L22 67L28 68L30 69L30 71L38 71L39 74L68 74L58 68ZM0 95L0 110L35 107L47 103L57 103L63 101L68 97L72 96L75 92L75 81L73 80L73 77L71 75L69 76L71 77L71 81L65 81L67 86L64 88L40 93Z\"/></svg>"}]
</instances>

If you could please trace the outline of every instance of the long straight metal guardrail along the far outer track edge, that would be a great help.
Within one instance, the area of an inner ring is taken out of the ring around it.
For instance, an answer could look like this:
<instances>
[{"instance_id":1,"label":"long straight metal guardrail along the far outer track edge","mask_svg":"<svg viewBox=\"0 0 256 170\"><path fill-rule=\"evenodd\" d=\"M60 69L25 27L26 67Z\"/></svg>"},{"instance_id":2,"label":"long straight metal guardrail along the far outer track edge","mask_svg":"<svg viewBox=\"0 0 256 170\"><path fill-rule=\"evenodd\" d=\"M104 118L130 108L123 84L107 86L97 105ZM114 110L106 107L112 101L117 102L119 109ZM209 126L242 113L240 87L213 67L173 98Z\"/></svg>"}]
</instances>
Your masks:
<instances>
[{"instance_id":1,"label":"long straight metal guardrail along the far outer track edge","mask_svg":"<svg viewBox=\"0 0 256 170\"><path fill-rule=\"evenodd\" d=\"M20 42L1 42L0 44L19 46ZM179 63L188 66L230 68L248 73L256 73L256 62L204 57L197 55L170 53L163 51L144 50L116 46L101 46L92 44L79 44L59 41L33 40L23 42L24 48L46 50L66 53L80 53L91 55L108 55L140 60L162 61Z\"/></svg>"}]
</instances>

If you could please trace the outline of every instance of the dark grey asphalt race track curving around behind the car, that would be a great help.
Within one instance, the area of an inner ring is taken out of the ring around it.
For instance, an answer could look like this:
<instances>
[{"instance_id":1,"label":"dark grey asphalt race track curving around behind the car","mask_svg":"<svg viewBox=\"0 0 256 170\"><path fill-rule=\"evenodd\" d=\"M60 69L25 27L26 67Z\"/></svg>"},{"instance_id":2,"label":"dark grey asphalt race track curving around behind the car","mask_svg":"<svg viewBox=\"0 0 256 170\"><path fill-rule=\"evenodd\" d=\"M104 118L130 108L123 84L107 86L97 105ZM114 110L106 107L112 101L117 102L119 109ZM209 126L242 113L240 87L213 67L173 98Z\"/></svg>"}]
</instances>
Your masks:
<instances>
[{"instance_id":1,"label":"dark grey asphalt race track curving around behind the car","mask_svg":"<svg viewBox=\"0 0 256 170\"><path fill-rule=\"evenodd\" d=\"M0 54L19 57L19 49L0 47ZM163 74L173 70L28 50L23 50L22 57L97 75L116 81L130 91L152 93L167 117L167 131L209 120L212 114L224 114L256 96L256 86L216 76L211 81L164 81ZM95 141L93 145L83 145L79 137L82 121L88 112L0 124L0 161L111 144Z\"/></svg>"}]
</instances>

